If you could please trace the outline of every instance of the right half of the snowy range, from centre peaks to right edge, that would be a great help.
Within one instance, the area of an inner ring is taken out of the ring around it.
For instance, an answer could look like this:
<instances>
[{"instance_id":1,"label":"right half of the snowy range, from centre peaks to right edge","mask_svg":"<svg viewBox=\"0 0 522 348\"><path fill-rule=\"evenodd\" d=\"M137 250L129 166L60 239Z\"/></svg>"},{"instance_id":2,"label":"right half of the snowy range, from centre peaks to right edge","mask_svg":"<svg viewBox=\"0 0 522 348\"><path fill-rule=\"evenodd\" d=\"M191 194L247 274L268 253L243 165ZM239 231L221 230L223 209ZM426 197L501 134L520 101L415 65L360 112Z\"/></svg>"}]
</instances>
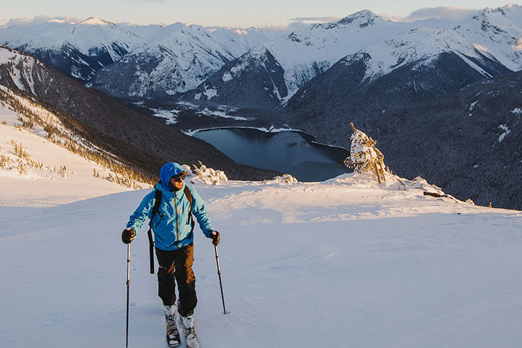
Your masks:
<instances>
[{"instance_id":1,"label":"right half of the snowy range, from centre peaks to right edge","mask_svg":"<svg viewBox=\"0 0 522 348\"><path fill-rule=\"evenodd\" d=\"M286 96L280 93L278 102L285 102L310 79L326 72L345 56L354 54L367 55L365 79L370 80L416 61L420 65L429 64L430 57L436 58L443 52L457 54L484 77L521 70L521 17L521 6L507 5L496 10L482 10L454 29L440 29L418 28L415 22L385 21L363 10L339 22L295 31L285 38L266 42L263 47L284 71L288 93ZM230 78L209 79L198 90L214 90L206 99L223 102L227 100L223 96L229 95L230 85L234 84L233 79L242 79L243 71L250 70L252 65L262 65L262 61L259 55L246 53L241 62L231 63L228 71L219 72ZM260 74L264 72L260 71ZM251 97L250 106L262 107L263 102L258 102L258 98L268 97L273 89L258 86L255 93L248 90L249 95L255 95ZM239 100L244 99L241 90L236 93Z\"/></svg>"}]
</instances>

